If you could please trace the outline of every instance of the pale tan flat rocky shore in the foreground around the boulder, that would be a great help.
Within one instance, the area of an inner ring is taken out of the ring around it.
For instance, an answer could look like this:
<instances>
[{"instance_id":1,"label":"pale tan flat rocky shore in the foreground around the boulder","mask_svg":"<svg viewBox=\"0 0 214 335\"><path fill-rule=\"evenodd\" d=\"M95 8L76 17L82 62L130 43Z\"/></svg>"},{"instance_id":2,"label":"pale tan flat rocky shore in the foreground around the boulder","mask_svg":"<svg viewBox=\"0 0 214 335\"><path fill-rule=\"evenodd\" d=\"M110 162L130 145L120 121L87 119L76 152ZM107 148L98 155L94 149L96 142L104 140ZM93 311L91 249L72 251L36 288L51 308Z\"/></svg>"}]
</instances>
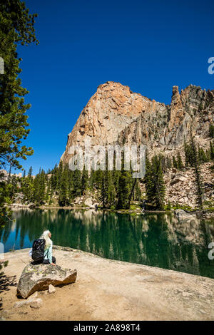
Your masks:
<instances>
[{"instance_id":1,"label":"pale tan flat rocky shore in the foreground around the boulder","mask_svg":"<svg viewBox=\"0 0 214 335\"><path fill-rule=\"evenodd\" d=\"M37 293L34 304L18 304L17 284L29 264L29 249L5 254L0 317L5 320L213 320L214 279L141 264L103 259L54 247L56 263L77 269L76 282ZM42 302L41 302L42 301Z\"/></svg>"}]
</instances>

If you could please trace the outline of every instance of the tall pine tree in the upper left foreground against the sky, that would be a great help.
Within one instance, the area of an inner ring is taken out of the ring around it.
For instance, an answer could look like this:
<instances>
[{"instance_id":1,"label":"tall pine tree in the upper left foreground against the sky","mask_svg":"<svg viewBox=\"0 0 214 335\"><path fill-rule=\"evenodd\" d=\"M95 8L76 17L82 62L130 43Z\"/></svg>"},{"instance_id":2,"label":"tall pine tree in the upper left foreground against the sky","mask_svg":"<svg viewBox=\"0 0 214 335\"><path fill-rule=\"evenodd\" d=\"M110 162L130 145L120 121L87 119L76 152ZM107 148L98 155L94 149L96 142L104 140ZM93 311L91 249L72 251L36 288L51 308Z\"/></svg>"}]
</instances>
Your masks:
<instances>
[{"instance_id":1,"label":"tall pine tree in the upper left foreground against the sky","mask_svg":"<svg viewBox=\"0 0 214 335\"><path fill-rule=\"evenodd\" d=\"M30 131L25 113L31 105L24 104L29 92L21 86L17 48L39 43L34 30L36 16L29 14L24 1L0 2L0 50L4 59L4 75L0 76L0 168L5 163L21 168L18 159L34 153L32 148L21 146Z\"/></svg>"}]
</instances>

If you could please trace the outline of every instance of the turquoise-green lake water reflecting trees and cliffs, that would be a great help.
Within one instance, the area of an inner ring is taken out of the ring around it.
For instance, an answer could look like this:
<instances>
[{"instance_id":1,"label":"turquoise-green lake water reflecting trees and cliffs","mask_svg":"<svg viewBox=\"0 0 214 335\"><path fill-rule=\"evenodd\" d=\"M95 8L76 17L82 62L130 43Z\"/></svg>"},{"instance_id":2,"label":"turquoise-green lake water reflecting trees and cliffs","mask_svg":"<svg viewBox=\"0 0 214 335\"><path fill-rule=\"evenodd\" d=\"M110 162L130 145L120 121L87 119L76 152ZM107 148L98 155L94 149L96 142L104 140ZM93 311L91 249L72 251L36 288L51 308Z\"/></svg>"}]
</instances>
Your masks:
<instances>
[{"instance_id":1,"label":"turquoise-green lake water reflecting trees and cliffs","mask_svg":"<svg viewBox=\"0 0 214 335\"><path fill-rule=\"evenodd\" d=\"M108 259L173 269L214 278L214 224L205 220L178 222L164 213L131 216L94 210L16 210L16 222L0 230L5 252L31 247L49 229L54 244Z\"/></svg>"}]
</instances>

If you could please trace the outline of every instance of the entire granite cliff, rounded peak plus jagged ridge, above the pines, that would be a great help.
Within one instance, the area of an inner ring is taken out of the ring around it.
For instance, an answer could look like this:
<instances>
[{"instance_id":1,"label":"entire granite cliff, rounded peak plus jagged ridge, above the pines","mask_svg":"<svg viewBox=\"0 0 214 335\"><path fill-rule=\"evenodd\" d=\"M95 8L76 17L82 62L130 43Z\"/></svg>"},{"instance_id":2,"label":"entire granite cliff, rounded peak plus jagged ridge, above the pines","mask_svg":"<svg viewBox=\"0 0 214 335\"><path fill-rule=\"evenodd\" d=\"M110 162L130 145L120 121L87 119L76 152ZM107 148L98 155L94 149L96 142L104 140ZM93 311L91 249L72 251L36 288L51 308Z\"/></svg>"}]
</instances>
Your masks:
<instances>
[{"instance_id":1,"label":"entire granite cliff, rounded peak plus jagged ridge, above the pines","mask_svg":"<svg viewBox=\"0 0 214 335\"><path fill-rule=\"evenodd\" d=\"M196 142L209 145L209 127L214 123L214 91L190 85L179 92L173 86L170 105L133 93L128 86L108 81L98 86L96 93L83 108L76 125L68 134L66 150L61 160L68 163L71 145L118 143L145 144L149 152L173 155L183 153L184 139L190 138L190 128Z\"/></svg>"}]
</instances>

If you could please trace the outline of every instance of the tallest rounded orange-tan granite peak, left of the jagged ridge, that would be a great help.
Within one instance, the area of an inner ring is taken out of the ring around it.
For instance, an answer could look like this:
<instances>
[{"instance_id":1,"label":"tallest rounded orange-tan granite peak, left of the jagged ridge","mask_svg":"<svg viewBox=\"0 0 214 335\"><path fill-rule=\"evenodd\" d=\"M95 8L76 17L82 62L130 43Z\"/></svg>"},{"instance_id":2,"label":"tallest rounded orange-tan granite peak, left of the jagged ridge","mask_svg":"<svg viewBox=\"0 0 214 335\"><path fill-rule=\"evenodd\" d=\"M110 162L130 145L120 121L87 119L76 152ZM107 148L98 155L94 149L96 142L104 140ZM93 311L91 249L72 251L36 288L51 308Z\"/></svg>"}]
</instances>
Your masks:
<instances>
[{"instance_id":1,"label":"tallest rounded orange-tan granite peak, left of the jagged ridge","mask_svg":"<svg viewBox=\"0 0 214 335\"><path fill-rule=\"evenodd\" d=\"M68 135L66 151L61 159L68 163L68 148L71 145L83 145L88 138L91 139L91 145L114 143L119 133L152 105L150 99L133 93L121 83L107 81L98 86Z\"/></svg>"}]
</instances>

